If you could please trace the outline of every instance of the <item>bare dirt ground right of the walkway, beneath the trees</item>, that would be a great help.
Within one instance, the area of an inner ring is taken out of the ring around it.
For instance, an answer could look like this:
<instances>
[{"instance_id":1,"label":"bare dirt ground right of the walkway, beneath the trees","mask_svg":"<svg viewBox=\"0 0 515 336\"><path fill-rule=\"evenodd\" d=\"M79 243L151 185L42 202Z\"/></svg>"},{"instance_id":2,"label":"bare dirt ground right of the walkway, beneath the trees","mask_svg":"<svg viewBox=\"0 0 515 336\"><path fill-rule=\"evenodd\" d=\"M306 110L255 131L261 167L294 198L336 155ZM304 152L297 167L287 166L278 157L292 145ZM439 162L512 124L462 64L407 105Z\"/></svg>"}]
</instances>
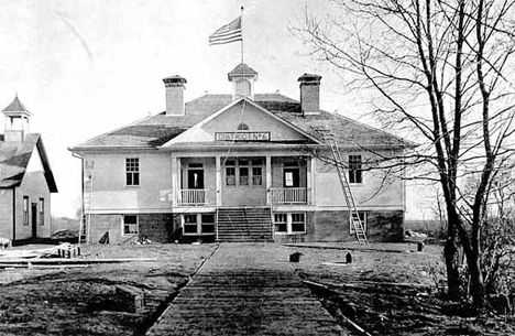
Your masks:
<instances>
[{"instance_id":1,"label":"bare dirt ground right of the walkway, beneath the trees","mask_svg":"<svg viewBox=\"0 0 515 336\"><path fill-rule=\"evenodd\" d=\"M289 247L304 254L297 272L325 284L310 288L350 330L346 317L370 335L515 335L514 316L472 317L462 305L439 299L441 247L417 252L416 243L304 246L310 248ZM347 263L347 253L352 263Z\"/></svg>"}]
</instances>

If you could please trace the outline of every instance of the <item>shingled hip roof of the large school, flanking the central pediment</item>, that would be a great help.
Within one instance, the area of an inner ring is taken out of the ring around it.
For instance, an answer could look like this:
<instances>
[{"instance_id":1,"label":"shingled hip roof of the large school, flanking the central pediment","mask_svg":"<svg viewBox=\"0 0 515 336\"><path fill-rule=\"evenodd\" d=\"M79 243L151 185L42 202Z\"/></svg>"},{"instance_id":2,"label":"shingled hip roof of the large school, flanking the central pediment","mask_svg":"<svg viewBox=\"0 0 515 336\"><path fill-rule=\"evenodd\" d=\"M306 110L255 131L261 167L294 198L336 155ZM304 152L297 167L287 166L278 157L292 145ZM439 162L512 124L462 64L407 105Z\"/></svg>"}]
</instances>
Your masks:
<instances>
[{"instance_id":1,"label":"shingled hip roof of the large school, flanking the central pediment","mask_svg":"<svg viewBox=\"0 0 515 336\"><path fill-rule=\"evenodd\" d=\"M165 112L161 112L94 138L70 150L155 149L231 102L231 95L205 95L187 102L184 116L166 116ZM299 101L281 94L256 94L254 102L320 142L322 139L317 129L325 128L335 134L341 145L397 148L414 145L407 140L341 115L320 110L319 115L303 116Z\"/></svg>"}]
</instances>

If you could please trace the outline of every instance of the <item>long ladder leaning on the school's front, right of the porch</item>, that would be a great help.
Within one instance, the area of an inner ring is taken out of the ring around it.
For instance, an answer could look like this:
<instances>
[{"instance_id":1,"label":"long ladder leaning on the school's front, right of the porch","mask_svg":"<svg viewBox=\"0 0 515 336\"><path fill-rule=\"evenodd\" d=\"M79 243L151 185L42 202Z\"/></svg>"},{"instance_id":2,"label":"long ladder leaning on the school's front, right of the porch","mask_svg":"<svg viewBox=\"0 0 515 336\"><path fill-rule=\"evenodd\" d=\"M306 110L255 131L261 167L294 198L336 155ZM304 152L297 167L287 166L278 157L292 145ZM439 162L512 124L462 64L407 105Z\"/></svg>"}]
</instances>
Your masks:
<instances>
[{"instance_id":1,"label":"long ladder leaning on the school's front, right of the porch","mask_svg":"<svg viewBox=\"0 0 515 336\"><path fill-rule=\"evenodd\" d=\"M351 227L354 229L355 238L358 238L358 241L360 243L366 243L369 242L369 240L366 239L366 232L364 230L363 224L361 223L358 208L355 207L354 197L352 196L349 181L347 180L347 175L343 170L343 160L341 158L341 152L338 148L338 142L335 138L335 134L325 128L318 128L316 129L316 131L321 136L324 142L329 143L329 145L331 147L332 159L335 160L335 164L337 166L338 177L340 180L343 197L346 198L347 206L349 207L349 221Z\"/></svg>"}]
</instances>

